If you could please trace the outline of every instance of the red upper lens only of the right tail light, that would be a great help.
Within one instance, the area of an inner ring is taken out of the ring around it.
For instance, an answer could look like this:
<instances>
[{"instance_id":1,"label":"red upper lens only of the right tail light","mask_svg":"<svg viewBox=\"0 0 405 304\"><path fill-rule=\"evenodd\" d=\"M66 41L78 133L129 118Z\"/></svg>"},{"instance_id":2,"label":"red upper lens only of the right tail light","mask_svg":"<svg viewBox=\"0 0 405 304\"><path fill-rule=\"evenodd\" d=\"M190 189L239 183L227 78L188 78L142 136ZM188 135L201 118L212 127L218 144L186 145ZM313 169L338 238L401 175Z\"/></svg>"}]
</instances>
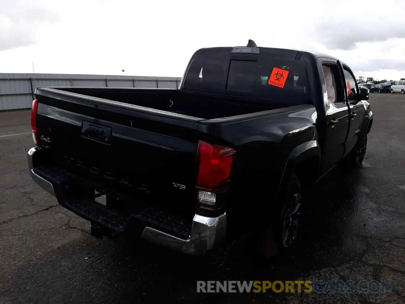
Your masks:
<instances>
[{"instance_id":1,"label":"red upper lens only of the right tail light","mask_svg":"<svg viewBox=\"0 0 405 304\"><path fill-rule=\"evenodd\" d=\"M198 141L197 159L198 176L197 186L202 188L215 188L224 184L230 178L232 158L235 150L211 145L205 141Z\"/></svg>"}]
</instances>

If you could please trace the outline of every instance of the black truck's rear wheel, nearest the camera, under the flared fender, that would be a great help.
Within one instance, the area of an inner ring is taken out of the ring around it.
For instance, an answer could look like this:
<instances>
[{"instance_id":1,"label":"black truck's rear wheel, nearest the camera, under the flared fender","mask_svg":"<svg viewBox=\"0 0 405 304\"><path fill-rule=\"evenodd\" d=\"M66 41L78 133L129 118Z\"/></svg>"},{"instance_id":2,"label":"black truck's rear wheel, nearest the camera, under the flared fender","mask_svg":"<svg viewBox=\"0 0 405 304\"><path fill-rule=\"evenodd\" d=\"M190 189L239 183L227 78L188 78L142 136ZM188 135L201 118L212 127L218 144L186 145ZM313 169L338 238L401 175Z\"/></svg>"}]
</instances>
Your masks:
<instances>
[{"instance_id":1,"label":"black truck's rear wheel, nearest the camera, under the flared fender","mask_svg":"<svg viewBox=\"0 0 405 304\"><path fill-rule=\"evenodd\" d=\"M258 237L258 253L262 258L292 251L295 248L302 210L301 182L296 174L286 180L279 195L274 223Z\"/></svg>"}]
</instances>

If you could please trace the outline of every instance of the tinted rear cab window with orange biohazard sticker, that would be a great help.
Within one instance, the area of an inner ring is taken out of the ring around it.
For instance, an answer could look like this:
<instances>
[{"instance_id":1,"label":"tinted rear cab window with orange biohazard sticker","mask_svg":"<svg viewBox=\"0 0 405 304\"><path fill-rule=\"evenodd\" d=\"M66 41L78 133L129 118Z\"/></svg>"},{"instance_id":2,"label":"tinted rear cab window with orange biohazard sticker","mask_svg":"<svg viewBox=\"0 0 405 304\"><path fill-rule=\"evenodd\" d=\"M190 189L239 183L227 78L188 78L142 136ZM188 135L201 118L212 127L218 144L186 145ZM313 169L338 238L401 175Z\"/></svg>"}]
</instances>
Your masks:
<instances>
[{"instance_id":1,"label":"tinted rear cab window with orange biohazard sticker","mask_svg":"<svg viewBox=\"0 0 405 304\"><path fill-rule=\"evenodd\" d=\"M231 56L229 49L197 55L183 88L271 101L310 102L303 62L264 54Z\"/></svg>"}]
</instances>

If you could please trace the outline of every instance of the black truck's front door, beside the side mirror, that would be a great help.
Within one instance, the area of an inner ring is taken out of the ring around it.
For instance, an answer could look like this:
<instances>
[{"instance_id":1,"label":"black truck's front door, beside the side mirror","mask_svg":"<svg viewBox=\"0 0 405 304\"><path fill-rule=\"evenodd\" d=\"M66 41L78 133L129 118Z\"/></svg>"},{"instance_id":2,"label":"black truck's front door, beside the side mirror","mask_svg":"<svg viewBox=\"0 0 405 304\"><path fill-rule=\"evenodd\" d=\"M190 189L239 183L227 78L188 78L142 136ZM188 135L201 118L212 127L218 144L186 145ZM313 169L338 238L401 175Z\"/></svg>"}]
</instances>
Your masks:
<instances>
[{"instance_id":1,"label":"black truck's front door, beside the side mirror","mask_svg":"<svg viewBox=\"0 0 405 304\"><path fill-rule=\"evenodd\" d=\"M361 128L364 122L365 109L363 103L359 100L356 78L352 71L348 66L343 65L343 73L345 75L347 102L350 107L350 128L347 134L345 151L345 154L348 154L356 147L356 143L362 140L360 136L364 135L361 132Z\"/></svg>"}]
</instances>

